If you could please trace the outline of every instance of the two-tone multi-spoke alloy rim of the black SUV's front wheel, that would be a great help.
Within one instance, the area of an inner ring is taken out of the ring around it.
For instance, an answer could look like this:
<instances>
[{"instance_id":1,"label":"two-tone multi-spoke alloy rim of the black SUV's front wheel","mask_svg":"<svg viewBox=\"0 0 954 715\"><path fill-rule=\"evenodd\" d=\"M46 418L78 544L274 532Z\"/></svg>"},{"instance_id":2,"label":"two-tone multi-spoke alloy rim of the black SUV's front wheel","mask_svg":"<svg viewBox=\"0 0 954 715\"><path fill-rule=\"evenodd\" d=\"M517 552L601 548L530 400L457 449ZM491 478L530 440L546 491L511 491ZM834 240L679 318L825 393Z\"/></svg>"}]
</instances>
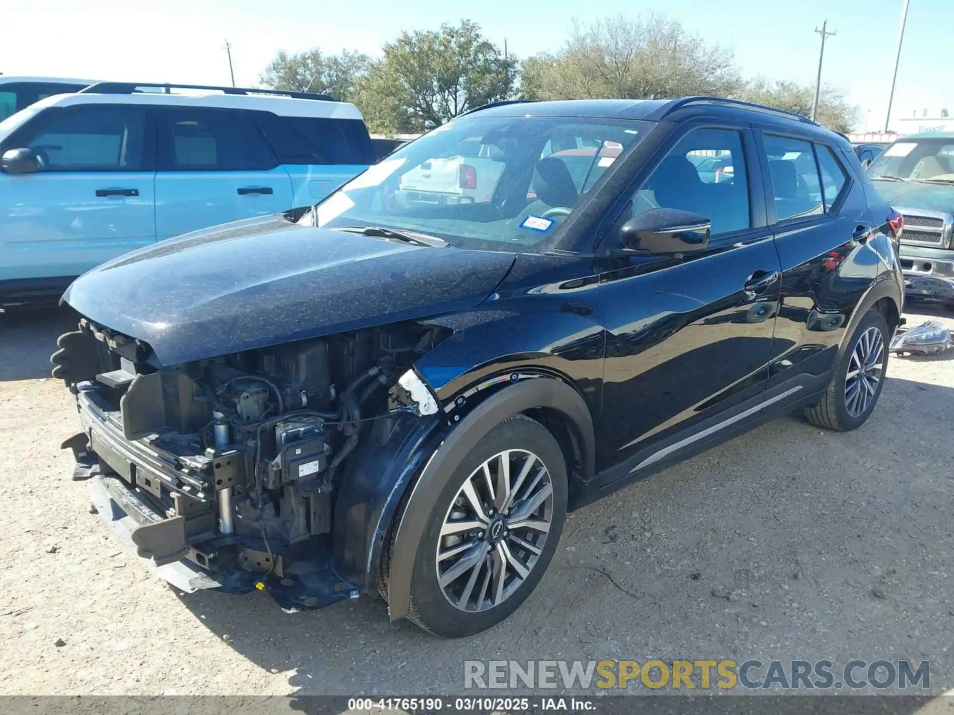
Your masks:
<instances>
[{"instance_id":1,"label":"two-tone multi-spoke alloy rim of the black SUV's front wheel","mask_svg":"<svg viewBox=\"0 0 954 715\"><path fill-rule=\"evenodd\" d=\"M527 580L553 518L550 472L522 449L499 452L475 469L447 509L437 541L437 580L462 611L506 601Z\"/></svg>"}]
</instances>

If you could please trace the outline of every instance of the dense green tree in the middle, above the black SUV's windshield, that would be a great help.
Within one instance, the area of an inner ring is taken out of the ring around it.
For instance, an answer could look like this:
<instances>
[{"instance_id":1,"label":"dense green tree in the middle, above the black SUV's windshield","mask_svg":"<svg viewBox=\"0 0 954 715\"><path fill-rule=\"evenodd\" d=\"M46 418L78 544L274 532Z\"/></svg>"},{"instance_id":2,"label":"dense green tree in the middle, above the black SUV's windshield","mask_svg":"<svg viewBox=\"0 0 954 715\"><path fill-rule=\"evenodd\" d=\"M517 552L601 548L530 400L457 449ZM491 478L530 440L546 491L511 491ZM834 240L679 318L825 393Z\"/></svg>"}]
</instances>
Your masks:
<instances>
[{"instance_id":1,"label":"dense green tree in the middle, above the black SUV's windshield","mask_svg":"<svg viewBox=\"0 0 954 715\"><path fill-rule=\"evenodd\" d=\"M403 32L384 45L355 101L374 132L417 133L512 95L518 62L504 58L469 20Z\"/></svg>"}]
</instances>

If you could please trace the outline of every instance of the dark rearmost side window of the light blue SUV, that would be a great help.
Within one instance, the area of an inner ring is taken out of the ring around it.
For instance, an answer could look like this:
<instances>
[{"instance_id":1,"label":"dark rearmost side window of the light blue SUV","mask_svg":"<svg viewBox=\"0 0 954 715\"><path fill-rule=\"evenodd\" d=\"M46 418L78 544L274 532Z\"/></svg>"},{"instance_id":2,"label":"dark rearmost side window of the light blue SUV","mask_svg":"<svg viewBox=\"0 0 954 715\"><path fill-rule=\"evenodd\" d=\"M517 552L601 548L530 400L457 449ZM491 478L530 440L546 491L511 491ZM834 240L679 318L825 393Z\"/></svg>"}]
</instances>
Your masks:
<instances>
[{"instance_id":1,"label":"dark rearmost side window of the light blue SUV","mask_svg":"<svg viewBox=\"0 0 954 715\"><path fill-rule=\"evenodd\" d=\"M374 145L360 119L257 112L261 133L282 164L373 164Z\"/></svg>"}]
</instances>

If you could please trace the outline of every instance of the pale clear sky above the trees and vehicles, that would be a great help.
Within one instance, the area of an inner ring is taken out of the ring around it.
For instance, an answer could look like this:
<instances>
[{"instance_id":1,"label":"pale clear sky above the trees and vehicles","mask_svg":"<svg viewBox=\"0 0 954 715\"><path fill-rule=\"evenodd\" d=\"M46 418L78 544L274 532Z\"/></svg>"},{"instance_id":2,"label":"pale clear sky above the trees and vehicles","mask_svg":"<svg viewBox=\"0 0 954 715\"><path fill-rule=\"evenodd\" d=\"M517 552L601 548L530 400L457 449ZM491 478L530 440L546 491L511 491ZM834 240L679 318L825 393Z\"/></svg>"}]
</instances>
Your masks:
<instances>
[{"instance_id":1,"label":"pale clear sky above the trees and vehicles","mask_svg":"<svg viewBox=\"0 0 954 715\"><path fill-rule=\"evenodd\" d=\"M376 54L402 30L463 17L518 56L559 47L575 16L657 11L735 52L746 75L844 88L870 129L883 126L902 0L0 0L0 72L104 79L257 83L278 50L319 46ZM954 110L954 0L911 0L895 107ZM867 113L870 110L870 114ZM894 113L894 112L893 112ZM861 128L861 127L859 127Z\"/></svg>"}]
</instances>

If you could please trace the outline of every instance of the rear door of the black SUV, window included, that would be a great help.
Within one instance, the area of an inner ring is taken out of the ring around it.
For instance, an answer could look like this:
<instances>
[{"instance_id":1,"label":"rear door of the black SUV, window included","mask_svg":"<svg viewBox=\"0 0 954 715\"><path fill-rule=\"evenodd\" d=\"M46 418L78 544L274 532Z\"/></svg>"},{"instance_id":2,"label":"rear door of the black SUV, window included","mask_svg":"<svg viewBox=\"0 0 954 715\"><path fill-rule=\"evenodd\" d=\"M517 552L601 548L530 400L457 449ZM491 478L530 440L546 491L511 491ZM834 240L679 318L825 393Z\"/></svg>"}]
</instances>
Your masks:
<instances>
[{"instance_id":1,"label":"rear door of the black SUV, window included","mask_svg":"<svg viewBox=\"0 0 954 715\"><path fill-rule=\"evenodd\" d=\"M781 295L769 385L828 379L848 320L878 275L861 181L818 137L758 133Z\"/></svg>"}]
</instances>

